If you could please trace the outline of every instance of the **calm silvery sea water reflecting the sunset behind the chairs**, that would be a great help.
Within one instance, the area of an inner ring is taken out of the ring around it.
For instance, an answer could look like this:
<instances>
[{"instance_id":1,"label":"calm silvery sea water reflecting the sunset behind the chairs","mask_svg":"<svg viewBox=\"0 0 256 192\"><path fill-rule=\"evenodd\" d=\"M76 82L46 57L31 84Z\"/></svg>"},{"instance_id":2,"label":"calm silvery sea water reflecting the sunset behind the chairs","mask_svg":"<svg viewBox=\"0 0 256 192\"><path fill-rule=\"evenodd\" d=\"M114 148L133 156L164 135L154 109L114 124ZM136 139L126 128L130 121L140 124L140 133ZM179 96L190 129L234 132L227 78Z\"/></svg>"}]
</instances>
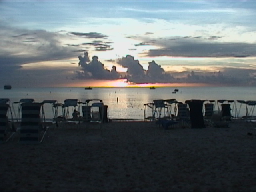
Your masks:
<instances>
[{"instance_id":1,"label":"calm silvery sea water reflecting the sunset behind the chairs","mask_svg":"<svg viewBox=\"0 0 256 192\"><path fill-rule=\"evenodd\" d=\"M256 100L256 87L180 87L175 94L175 88L12 88L0 91L0 98L9 98L12 110L18 113L18 102L23 98L33 98L36 102L43 100L57 100L63 103L65 99L78 99L85 102L87 99L101 99L108 106L108 117L111 119L144 119L144 104L154 99L172 99L185 102L190 99L202 100ZM234 102L236 103L236 102ZM233 104L232 104L233 105ZM215 109L218 104L216 103ZM239 108L240 104L236 103ZM233 108L233 106L232 106ZM146 112L149 112L146 108ZM58 110L58 114L61 114ZM234 115L235 110L232 110ZM52 118L53 112L50 105L45 107L46 118ZM246 115L246 106L242 105L240 116ZM148 116L148 114L146 115Z\"/></svg>"}]
</instances>

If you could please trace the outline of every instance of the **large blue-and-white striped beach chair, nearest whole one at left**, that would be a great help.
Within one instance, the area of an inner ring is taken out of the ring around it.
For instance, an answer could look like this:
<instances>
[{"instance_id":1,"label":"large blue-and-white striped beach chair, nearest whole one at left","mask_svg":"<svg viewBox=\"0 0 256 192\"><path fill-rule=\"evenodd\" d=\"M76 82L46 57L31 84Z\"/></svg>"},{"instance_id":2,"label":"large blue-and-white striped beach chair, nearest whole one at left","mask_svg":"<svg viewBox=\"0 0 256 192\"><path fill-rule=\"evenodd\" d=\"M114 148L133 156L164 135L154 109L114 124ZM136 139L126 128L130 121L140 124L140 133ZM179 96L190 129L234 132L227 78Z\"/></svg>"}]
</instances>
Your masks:
<instances>
[{"instance_id":1,"label":"large blue-and-white striped beach chair, nearest whole one at left","mask_svg":"<svg viewBox=\"0 0 256 192\"><path fill-rule=\"evenodd\" d=\"M22 103L20 144L39 144L44 140L47 128L42 126L40 111L42 103Z\"/></svg>"}]
</instances>

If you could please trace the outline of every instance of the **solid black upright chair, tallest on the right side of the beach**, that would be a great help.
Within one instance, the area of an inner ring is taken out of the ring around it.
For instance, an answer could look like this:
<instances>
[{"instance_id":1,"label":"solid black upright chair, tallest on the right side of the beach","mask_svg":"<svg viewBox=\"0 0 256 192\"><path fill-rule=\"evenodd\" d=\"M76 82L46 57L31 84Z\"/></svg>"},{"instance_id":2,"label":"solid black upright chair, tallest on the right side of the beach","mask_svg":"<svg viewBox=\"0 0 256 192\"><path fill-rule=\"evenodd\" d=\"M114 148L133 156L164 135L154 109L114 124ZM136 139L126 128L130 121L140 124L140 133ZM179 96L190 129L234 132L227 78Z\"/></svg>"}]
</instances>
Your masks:
<instances>
[{"instance_id":1,"label":"solid black upright chair, tallest on the right side of the beach","mask_svg":"<svg viewBox=\"0 0 256 192\"><path fill-rule=\"evenodd\" d=\"M190 122L191 128L205 128L203 116L203 100L189 100L187 101L190 108Z\"/></svg>"}]
</instances>

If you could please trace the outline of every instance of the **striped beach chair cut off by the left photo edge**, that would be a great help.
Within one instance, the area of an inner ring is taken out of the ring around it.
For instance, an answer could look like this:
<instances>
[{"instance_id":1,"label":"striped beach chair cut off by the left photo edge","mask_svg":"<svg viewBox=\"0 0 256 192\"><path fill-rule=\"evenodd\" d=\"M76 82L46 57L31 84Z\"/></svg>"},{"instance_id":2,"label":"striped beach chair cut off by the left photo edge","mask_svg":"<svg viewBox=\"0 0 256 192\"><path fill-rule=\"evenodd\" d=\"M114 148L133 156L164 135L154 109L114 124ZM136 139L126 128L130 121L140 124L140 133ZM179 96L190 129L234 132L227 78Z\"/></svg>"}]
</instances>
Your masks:
<instances>
[{"instance_id":1,"label":"striped beach chair cut off by the left photo edge","mask_svg":"<svg viewBox=\"0 0 256 192\"><path fill-rule=\"evenodd\" d=\"M16 126L13 122L12 109L9 99L0 99L0 142L8 142L12 136L17 132ZM10 112L11 121L8 120L8 113Z\"/></svg>"}]
</instances>

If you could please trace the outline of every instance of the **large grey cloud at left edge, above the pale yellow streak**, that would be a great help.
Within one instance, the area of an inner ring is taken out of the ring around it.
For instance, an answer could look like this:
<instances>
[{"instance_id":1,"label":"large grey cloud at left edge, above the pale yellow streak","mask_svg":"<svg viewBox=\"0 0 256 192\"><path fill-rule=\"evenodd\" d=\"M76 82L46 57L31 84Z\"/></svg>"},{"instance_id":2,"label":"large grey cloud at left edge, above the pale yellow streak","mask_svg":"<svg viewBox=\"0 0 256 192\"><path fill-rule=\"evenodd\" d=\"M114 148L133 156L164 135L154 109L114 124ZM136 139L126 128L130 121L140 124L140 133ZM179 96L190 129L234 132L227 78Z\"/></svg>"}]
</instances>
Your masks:
<instances>
[{"instance_id":1,"label":"large grey cloud at left edge, above the pale yellow streak","mask_svg":"<svg viewBox=\"0 0 256 192\"><path fill-rule=\"evenodd\" d=\"M0 35L2 36L1 66L4 64L20 66L25 63L75 56L74 48L62 46L59 42L60 34L46 30L25 30L5 26L1 29Z\"/></svg>"}]
</instances>

